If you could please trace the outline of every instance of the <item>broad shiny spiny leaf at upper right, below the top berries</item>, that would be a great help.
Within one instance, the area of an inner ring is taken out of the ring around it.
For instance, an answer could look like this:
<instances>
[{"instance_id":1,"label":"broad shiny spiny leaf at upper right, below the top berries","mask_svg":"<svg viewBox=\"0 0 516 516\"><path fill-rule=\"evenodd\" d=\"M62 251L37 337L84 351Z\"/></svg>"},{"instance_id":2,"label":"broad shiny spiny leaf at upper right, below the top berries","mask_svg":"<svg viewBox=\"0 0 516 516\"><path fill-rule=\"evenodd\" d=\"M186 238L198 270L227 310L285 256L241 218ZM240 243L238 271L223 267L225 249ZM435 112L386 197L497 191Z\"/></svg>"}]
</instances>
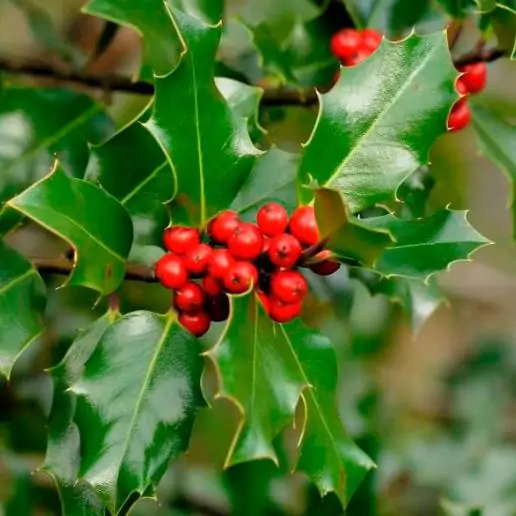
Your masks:
<instances>
[{"instance_id":1,"label":"broad shiny spiny leaf at upper right, below the top berries","mask_svg":"<svg viewBox=\"0 0 516 516\"><path fill-rule=\"evenodd\" d=\"M301 185L339 190L353 213L392 200L446 131L456 77L444 32L384 40L369 59L342 68L334 88L320 96ZM301 194L309 202L313 190Z\"/></svg>"}]
</instances>

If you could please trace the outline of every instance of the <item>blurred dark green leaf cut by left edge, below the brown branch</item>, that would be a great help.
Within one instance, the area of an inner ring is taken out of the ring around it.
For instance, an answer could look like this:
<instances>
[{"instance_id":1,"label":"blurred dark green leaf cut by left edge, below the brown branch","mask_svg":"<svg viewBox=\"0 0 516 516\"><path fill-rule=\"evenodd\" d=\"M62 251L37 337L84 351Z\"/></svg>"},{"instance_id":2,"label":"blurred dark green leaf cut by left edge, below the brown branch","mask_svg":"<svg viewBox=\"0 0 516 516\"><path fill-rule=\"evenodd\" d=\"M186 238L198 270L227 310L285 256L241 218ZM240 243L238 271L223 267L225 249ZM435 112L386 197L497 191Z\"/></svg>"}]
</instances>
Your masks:
<instances>
[{"instance_id":1,"label":"blurred dark green leaf cut by left edge, below the brown branch","mask_svg":"<svg viewBox=\"0 0 516 516\"><path fill-rule=\"evenodd\" d=\"M112 130L102 106L85 95L7 88L0 102L0 203L46 176L56 154L70 175L82 177L88 142Z\"/></svg>"}]
</instances>

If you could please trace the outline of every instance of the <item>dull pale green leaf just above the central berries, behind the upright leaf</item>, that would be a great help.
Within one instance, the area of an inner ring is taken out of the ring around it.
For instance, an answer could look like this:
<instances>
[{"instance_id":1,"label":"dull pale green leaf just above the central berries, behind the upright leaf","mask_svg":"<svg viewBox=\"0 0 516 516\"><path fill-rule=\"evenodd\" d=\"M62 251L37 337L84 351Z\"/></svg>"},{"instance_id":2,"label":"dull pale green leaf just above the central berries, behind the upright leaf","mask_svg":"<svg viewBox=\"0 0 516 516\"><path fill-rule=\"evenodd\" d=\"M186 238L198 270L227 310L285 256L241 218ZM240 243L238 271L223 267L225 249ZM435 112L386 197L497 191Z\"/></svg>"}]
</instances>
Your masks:
<instances>
[{"instance_id":1,"label":"dull pale green leaf just above the central berries, behind the upright leaf","mask_svg":"<svg viewBox=\"0 0 516 516\"><path fill-rule=\"evenodd\" d=\"M288 212L297 205L296 173L299 155L272 147L256 160L256 164L231 204L246 220L256 220L260 207L279 202Z\"/></svg>"}]
</instances>

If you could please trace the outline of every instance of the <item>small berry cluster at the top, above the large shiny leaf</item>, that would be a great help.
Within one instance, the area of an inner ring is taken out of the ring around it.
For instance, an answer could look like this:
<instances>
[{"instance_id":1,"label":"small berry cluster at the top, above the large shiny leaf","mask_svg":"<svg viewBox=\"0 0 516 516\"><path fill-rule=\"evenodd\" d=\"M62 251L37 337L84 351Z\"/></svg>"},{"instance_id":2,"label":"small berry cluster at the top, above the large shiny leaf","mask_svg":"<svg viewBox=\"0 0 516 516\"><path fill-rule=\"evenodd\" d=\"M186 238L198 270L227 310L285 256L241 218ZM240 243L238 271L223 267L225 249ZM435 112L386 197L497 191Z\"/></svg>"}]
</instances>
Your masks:
<instances>
[{"instance_id":1,"label":"small berry cluster at the top, above the large shiny leaf","mask_svg":"<svg viewBox=\"0 0 516 516\"><path fill-rule=\"evenodd\" d=\"M354 66L368 58L382 42L374 29L342 29L331 38L331 51L345 66Z\"/></svg>"}]
</instances>

